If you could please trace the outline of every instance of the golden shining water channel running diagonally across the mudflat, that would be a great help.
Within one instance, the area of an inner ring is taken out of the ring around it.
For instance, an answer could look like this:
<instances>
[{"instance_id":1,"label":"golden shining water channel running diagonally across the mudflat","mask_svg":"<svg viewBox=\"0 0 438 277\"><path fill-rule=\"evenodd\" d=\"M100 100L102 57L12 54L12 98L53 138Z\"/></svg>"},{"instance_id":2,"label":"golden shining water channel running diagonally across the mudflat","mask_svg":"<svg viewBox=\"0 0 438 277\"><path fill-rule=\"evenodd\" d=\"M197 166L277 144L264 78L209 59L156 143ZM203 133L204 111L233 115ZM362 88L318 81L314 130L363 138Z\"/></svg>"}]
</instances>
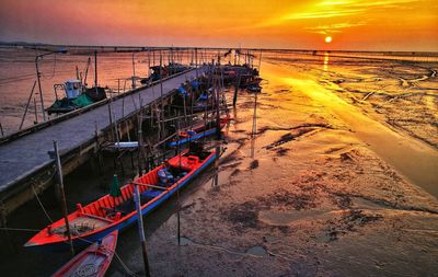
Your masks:
<instances>
[{"instance_id":1,"label":"golden shining water channel running diagonally across the mudflat","mask_svg":"<svg viewBox=\"0 0 438 277\"><path fill-rule=\"evenodd\" d=\"M324 58L324 65L326 60L328 60L327 56ZM287 69L278 66L266 65L266 68L285 84L308 95L315 102L315 105L328 108L351 129L355 136L366 142L370 149L401 174L438 197L438 171L436 170L438 151L436 149L415 138L395 132L388 126L362 114L361 111L333 93L333 86L324 88L318 83L318 80L306 74L295 73L295 77L291 77L290 70L288 72Z\"/></svg>"}]
</instances>

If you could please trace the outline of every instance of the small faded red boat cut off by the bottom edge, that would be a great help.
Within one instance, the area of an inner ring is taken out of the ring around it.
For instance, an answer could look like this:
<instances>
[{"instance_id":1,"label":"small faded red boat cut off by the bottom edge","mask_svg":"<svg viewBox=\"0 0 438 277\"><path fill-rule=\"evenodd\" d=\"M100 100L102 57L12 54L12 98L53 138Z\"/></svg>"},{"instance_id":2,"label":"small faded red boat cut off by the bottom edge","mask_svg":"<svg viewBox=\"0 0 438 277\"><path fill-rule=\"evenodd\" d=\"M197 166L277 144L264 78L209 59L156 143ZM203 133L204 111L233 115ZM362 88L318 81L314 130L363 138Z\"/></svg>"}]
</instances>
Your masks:
<instances>
[{"instance_id":1,"label":"small faded red boat cut off by the bottom edge","mask_svg":"<svg viewBox=\"0 0 438 277\"><path fill-rule=\"evenodd\" d=\"M118 230L113 231L76 255L53 277L95 276L103 277L108 269L117 245Z\"/></svg>"}]
</instances>

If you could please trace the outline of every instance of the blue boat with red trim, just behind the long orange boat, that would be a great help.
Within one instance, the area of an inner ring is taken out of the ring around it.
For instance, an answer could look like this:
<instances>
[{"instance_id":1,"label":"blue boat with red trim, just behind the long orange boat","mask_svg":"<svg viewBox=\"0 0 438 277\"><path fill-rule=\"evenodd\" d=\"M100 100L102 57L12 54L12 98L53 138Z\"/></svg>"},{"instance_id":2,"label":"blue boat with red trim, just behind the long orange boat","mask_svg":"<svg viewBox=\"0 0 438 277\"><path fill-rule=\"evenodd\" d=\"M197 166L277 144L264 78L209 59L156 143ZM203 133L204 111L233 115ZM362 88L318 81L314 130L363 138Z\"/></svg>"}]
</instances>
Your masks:
<instances>
[{"instance_id":1,"label":"blue boat with red trim, just behind the long orange boat","mask_svg":"<svg viewBox=\"0 0 438 277\"><path fill-rule=\"evenodd\" d=\"M230 120L229 115L220 118L220 129L222 129L229 123L229 120ZM216 123L215 122L210 122L207 125L199 124L188 130L180 131L177 135L177 139L174 141L169 141L166 143L166 146L168 147L182 146L182 145L198 140L200 138L211 136L215 132L216 132Z\"/></svg>"}]
</instances>

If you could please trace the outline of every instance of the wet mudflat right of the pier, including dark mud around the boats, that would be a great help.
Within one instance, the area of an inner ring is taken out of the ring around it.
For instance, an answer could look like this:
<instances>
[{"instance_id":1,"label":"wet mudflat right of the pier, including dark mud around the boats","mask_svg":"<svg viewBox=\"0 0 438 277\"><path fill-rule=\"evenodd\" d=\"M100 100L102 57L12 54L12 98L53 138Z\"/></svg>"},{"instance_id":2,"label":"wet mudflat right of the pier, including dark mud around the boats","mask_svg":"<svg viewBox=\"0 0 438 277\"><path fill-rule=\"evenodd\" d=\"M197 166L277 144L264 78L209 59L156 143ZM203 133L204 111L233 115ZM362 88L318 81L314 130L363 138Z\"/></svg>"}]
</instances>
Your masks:
<instances>
[{"instance_id":1,"label":"wet mudflat right of the pier, including dark mud around the boats","mask_svg":"<svg viewBox=\"0 0 438 277\"><path fill-rule=\"evenodd\" d=\"M437 69L264 58L255 136L255 95L242 91L218 168L180 195L181 245L176 198L145 219L152 276L436 276ZM104 194L93 174L84 165L69 176L68 197ZM10 227L39 229L44 217L34 200ZM47 276L68 259L23 250L26 233L12 236L5 276ZM143 274L136 228L119 236L117 256L107 276Z\"/></svg>"}]
</instances>

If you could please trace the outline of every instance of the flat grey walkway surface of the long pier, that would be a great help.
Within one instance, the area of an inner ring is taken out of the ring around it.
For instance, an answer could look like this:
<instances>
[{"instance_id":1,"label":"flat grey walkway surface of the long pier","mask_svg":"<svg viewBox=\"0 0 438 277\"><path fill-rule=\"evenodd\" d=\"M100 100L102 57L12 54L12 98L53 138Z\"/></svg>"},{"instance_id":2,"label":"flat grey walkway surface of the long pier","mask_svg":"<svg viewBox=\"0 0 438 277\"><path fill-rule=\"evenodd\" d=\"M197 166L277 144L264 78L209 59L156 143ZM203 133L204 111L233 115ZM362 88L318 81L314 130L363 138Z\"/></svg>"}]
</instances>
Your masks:
<instances>
[{"instance_id":1,"label":"flat grey walkway surface of the long pier","mask_svg":"<svg viewBox=\"0 0 438 277\"><path fill-rule=\"evenodd\" d=\"M198 72L201 72L200 68ZM171 77L162 82L163 96L169 95L186 80L196 78L196 70ZM136 112L141 97L142 106L160 99L160 83L139 89L130 95L115 100L112 111L116 119L120 119L124 106L125 116ZM108 104L101 105L68 120L20 137L0 145L0 194L13 188L23 178L28 178L37 171L54 162L48 152L53 151L53 141L57 140L61 153L80 148L95 138L95 130L104 130L110 126ZM3 200L3 199L1 199Z\"/></svg>"}]
</instances>

